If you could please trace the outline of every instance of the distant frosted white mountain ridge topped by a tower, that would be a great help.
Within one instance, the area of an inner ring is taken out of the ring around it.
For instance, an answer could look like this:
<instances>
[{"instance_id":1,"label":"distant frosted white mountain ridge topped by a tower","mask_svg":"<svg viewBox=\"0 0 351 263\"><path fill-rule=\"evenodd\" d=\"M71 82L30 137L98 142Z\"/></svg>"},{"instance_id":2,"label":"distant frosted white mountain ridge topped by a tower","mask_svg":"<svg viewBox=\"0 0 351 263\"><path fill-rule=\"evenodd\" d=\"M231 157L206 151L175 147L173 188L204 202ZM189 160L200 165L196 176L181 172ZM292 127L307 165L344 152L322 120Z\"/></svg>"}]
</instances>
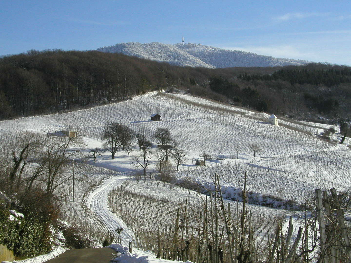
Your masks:
<instances>
[{"instance_id":1,"label":"distant frosted white mountain ridge topped by a tower","mask_svg":"<svg viewBox=\"0 0 351 263\"><path fill-rule=\"evenodd\" d=\"M194 43L163 44L158 42L119 43L96 49L101 52L122 53L139 58L168 62L177 66L227 68L227 67L275 67L304 65L305 60L273 58L240 50L229 50Z\"/></svg>"}]
</instances>

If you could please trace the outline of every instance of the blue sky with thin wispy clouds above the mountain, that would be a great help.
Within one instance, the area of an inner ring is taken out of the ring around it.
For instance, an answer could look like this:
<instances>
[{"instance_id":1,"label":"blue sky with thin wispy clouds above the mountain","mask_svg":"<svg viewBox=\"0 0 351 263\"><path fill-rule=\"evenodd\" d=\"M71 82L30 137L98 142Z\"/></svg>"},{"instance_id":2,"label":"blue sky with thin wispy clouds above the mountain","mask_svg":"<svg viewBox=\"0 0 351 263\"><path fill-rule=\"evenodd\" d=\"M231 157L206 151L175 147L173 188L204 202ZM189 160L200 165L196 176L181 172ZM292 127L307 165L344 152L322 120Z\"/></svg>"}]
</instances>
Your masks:
<instances>
[{"instance_id":1,"label":"blue sky with thin wispy clouds above the mountain","mask_svg":"<svg viewBox=\"0 0 351 263\"><path fill-rule=\"evenodd\" d=\"M351 66L351 1L1 1L0 55L201 43Z\"/></svg>"}]
</instances>

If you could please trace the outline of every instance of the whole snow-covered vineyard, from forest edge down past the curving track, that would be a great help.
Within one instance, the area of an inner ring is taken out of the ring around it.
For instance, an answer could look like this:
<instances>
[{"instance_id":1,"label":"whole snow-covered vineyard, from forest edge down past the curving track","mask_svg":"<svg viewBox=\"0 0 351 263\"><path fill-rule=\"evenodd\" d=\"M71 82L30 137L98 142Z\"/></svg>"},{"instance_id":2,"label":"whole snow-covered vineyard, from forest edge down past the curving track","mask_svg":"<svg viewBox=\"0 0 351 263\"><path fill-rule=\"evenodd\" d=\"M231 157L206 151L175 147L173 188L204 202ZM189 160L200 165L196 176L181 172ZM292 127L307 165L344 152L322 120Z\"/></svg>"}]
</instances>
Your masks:
<instances>
[{"instance_id":1,"label":"whole snow-covered vineyard, from forest edge down past the curving track","mask_svg":"<svg viewBox=\"0 0 351 263\"><path fill-rule=\"evenodd\" d=\"M150 116L156 113L161 121L151 121ZM82 151L88 154L91 149L102 148L102 132L111 122L128 125L135 133L145 130L152 151L157 149L155 130L166 128L177 147L187 153L179 171L173 169L172 183L154 178L158 164L154 155L147 168L148 177L135 175L140 173L133 163L133 157L139 154L135 143L130 157L119 150L112 160L105 151L96 163L90 159L76 167L76 200L70 202L63 219L74 218L72 223L85 228L88 235L105 232L106 236L114 235L115 240L121 238L125 245L133 240L134 246L153 250L157 238L151 232L158 232L158 238L166 240L180 209L188 209L187 223L200 224L199 218L204 215L196 211L204 206L204 193L214 190L215 174L228 209L236 211L232 212L233 218L239 218L246 172L246 209L256 218L250 222L258 245L266 235L274 234L277 217L287 208L302 210L306 197L315 189L350 188L351 150L316 136L331 127L338 133L338 127L287 119L280 120L282 126L275 126L265 121L269 116L188 95L152 93L86 110L1 121L0 131L75 130L86 142ZM252 144L261 150L254 153ZM205 166L196 166L194 160L203 152L212 159L206 160ZM60 191L72 196L71 182L63 183ZM116 235L114 230L118 228L123 231ZM162 231L164 237L160 237ZM194 238L197 234L192 231L184 235Z\"/></svg>"}]
</instances>

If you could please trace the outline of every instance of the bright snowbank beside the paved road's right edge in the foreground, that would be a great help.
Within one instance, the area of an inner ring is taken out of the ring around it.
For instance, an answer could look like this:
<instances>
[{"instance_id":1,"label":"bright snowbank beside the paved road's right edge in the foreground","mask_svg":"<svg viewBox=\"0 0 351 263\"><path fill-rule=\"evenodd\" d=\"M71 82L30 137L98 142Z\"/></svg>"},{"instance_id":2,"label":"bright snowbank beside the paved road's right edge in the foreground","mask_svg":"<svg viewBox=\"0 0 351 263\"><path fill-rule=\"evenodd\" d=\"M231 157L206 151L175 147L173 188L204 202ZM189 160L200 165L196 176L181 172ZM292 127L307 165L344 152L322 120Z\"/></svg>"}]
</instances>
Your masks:
<instances>
[{"instance_id":1,"label":"bright snowbank beside the paved road's right edge in the foreground","mask_svg":"<svg viewBox=\"0 0 351 263\"><path fill-rule=\"evenodd\" d=\"M156 255L153 254L150 250L141 251L139 249L132 250L132 253L129 252L129 248L120 245L120 244L112 244L108 246L109 248L113 248L118 252L118 257L115 258L115 262L119 263L171 263L171 262L183 262L183 261L172 261L167 259L156 258ZM187 261L191 262L191 261Z\"/></svg>"}]
</instances>

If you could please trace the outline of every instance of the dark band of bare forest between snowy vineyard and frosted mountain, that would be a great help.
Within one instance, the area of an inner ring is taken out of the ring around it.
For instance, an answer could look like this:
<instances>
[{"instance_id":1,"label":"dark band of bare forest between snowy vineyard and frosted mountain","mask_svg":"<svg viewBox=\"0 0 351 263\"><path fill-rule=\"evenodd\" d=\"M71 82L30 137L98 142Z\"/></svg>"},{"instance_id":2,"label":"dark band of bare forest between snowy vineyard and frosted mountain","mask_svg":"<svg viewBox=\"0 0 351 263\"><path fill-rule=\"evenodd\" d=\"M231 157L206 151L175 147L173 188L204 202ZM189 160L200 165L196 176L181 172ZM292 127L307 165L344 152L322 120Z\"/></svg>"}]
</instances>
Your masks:
<instances>
[{"instance_id":1,"label":"dark band of bare forest between snowy vineyard and frosted mountain","mask_svg":"<svg viewBox=\"0 0 351 263\"><path fill-rule=\"evenodd\" d=\"M174 88L281 115L350 117L351 67L347 66L209 69L119 53L58 49L0 58L0 119L92 107Z\"/></svg>"}]
</instances>

